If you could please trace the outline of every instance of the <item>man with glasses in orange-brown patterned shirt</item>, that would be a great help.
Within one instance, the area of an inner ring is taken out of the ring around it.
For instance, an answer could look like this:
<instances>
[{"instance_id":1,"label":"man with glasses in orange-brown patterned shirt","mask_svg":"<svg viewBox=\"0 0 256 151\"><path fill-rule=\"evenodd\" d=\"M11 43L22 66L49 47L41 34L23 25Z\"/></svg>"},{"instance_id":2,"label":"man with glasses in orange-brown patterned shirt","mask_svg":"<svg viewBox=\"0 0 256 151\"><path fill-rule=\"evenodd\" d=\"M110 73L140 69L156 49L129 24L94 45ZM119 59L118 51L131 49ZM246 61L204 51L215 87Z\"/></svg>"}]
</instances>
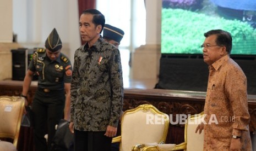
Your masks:
<instances>
[{"instance_id":1,"label":"man with glasses in orange-brown patterned shirt","mask_svg":"<svg viewBox=\"0 0 256 151\"><path fill-rule=\"evenodd\" d=\"M249 133L247 79L230 58L232 37L223 30L204 33L204 62L209 65L205 100L204 150L252 150Z\"/></svg>"}]
</instances>

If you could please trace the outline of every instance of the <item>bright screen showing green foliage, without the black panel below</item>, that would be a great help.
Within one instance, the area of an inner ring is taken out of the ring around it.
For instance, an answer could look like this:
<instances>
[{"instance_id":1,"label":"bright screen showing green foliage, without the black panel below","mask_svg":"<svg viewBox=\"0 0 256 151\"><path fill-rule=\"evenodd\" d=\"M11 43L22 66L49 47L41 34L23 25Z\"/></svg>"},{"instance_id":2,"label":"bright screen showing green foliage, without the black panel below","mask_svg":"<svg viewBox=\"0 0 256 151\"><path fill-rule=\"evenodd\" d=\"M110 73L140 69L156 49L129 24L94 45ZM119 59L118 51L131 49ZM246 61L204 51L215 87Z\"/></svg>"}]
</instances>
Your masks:
<instances>
[{"instance_id":1,"label":"bright screen showing green foliage, without the black panel below","mask_svg":"<svg viewBox=\"0 0 256 151\"><path fill-rule=\"evenodd\" d=\"M256 55L256 1L162 0L162 54L201 54L214 29L232 34L231 54Z\"/></svg>"}]
</instances>

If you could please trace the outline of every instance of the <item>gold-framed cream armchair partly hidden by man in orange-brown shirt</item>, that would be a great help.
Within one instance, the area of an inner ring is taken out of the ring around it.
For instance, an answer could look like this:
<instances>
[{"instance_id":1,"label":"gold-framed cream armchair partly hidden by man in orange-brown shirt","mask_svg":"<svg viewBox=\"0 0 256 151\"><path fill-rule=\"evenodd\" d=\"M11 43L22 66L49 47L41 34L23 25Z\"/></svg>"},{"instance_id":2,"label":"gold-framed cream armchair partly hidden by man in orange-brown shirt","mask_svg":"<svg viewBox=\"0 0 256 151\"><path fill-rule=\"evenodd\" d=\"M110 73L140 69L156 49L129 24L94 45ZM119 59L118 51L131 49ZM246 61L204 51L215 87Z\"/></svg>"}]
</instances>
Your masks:
<instances>
[{"instance_id":1,"label":"gold-framed cream armchair partly hidden by man in orange-brown shirt","mask_svg":"<svg viewBox=\"0 0 256 151\"><path fill-rule=\"evenodd\" d=\"M156 144L154 146L147 146L143 151L168 151L168 150L187 150L187 151L200 151L203 150L204 133L195 133L198 124L204 118L204 112L196 115L191 115L186 120L185 124L185 139L181 144Z\"/></svg>"}]
</instances>

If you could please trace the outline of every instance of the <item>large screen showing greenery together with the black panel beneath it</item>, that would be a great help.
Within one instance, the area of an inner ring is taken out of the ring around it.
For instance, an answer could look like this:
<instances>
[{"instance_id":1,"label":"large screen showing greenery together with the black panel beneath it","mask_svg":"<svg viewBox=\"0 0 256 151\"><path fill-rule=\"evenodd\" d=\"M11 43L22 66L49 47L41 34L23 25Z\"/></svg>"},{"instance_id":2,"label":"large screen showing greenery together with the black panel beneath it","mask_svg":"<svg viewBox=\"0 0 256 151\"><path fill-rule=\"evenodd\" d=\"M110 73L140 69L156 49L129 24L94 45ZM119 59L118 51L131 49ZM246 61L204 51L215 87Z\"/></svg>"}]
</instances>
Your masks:
<instances>
[{"instance_id":1,"label":"large screen showing greenery together with the black panel beneath it","mask_svg":"<svg viewBox=\"0 0 256 151\"><path fill-rule=\"evenodd\" d=\"M206 91L209 69L203 60L204 33L231 33L231 58L247 76L248 94L256 94L255 0L162 0L161 59L155 88Z\"/></svg>"}]
</instances>

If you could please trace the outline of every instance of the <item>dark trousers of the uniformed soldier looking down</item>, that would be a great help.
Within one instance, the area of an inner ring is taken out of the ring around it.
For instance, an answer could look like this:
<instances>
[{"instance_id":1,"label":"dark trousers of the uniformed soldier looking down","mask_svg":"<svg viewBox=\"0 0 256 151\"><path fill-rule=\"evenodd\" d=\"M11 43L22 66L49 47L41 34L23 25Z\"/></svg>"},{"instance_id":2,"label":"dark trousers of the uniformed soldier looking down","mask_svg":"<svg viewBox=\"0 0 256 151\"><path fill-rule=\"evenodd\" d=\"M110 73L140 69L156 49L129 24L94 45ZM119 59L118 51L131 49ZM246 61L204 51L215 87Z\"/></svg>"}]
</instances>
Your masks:
<instances>
[{"instance_id":1,"label":"dark trousers of the uniformed soldier looking down","mask_svg":"<svg viewBox=\"0 0 256 151\"><path fill-rule=\"evenodd\" d=\"M63 118L65 94L63 91L43 92L37 90L33 103L34 141L36 151L46 151L51 148L55 135L55 125ZM48 134L48 140L44 136Z\"/></svg>"}]
</instances>

